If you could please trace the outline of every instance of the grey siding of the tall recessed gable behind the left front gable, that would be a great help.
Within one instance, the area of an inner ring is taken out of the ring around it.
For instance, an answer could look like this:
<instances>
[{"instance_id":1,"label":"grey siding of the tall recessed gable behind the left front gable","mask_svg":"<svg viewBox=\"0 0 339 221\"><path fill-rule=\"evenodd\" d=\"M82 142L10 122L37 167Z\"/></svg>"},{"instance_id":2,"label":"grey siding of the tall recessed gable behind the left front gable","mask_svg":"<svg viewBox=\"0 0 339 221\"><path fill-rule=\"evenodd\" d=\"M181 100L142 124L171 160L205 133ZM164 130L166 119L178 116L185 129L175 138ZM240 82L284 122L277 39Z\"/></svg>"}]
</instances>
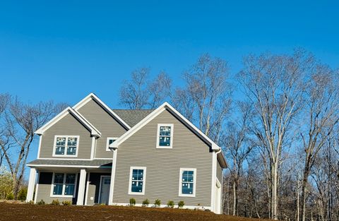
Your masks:
<instances>
[{"instance_id":1,"label":"grey siding of the tall recessed gable behind the left front gable","mask_svg":"<svg viewBox=\"0 0 339 221\"><path fill-rule=\"evenodd\" d=\"M106 151L107 138L119 138L126 132L124 127L94 100L83 105L78 112L102 133L101 137L97 138L95 157L112 158L112 153Z\"/></svg>"}]
</instances>

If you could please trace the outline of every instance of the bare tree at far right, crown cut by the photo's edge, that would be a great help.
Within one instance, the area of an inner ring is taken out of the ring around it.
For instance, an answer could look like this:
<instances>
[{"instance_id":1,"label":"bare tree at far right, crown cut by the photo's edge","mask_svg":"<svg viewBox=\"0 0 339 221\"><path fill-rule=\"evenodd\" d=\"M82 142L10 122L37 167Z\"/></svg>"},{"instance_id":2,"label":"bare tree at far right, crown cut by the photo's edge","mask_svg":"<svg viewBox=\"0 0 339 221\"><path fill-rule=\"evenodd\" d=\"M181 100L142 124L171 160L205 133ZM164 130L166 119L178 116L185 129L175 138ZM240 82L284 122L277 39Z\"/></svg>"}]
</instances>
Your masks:
<instances>
[{"instance_id":1,"label":"bare tree at far right, crown cut by the photo's edge","mask_svg":"<svg viewBox=\"0 0 339 221\"><path fill-rule=\"evenodd\" d=\"M302 221L306 218L307 182L319 150L339 122L338 72L318 65L309 79L302 118L302 147L305 153L302 179Z\"/></svg>"}]
</instances>

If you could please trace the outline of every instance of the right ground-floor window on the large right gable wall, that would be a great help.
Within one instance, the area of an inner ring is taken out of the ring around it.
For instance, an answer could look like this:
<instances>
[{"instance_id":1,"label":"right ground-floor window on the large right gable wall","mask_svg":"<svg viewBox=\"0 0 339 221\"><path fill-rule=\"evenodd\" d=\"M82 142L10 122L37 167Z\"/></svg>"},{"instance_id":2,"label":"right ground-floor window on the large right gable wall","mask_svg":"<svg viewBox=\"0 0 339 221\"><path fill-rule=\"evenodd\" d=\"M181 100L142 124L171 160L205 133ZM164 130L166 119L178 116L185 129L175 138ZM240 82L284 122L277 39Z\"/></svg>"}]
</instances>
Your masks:
<instances>
[{"instance_id":1,"label":"right ground-floor window on the large right gable wall","mask_svg":"<svg viewBox=\"0 0 339 221\"><path fill-rule=\"evenodd\" d=\"M180 169L179 196L196 196L196 169Z\"/></svg>"}]
</instances>

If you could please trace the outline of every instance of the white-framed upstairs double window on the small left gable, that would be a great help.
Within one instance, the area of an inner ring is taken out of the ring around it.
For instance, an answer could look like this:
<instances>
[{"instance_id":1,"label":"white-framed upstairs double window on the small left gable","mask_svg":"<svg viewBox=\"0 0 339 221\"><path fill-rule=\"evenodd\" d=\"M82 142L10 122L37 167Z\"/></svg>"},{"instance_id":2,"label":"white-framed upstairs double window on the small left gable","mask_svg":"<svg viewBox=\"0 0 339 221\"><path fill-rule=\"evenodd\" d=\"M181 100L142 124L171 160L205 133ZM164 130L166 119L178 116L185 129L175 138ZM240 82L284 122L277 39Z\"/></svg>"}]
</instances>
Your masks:
<instances>
[{"instance_id":1,"label":"white-framed upstairs double window on the small left gable","mask_svg":"<svg viewBox=\"0 0 339 221\"><path fill-rule=\"evenodd\" d=\"M79 136L55 136L54 157L76 157L78 155Z\"/></svg>"}]
</instances>

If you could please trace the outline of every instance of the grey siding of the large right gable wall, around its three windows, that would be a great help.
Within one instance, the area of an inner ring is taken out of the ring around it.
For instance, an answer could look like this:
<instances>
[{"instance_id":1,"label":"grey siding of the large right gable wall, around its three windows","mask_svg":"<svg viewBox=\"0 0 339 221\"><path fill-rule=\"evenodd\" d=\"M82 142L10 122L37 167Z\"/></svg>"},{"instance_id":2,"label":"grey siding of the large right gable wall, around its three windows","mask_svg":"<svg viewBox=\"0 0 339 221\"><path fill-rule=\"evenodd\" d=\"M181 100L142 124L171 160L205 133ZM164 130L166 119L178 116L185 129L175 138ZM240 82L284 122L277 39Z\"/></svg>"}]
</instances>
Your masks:
<instances>
[{"instance_id":1,"label":"grey siding of the large right gable wall, around its three windows","mask_svg":"<svg viewBox=\"0 0 339 221\"><path fill-rule=\"evenodd\" d=\"M173 148L157 149L157 124L174 124ZM147 167L145 195L129 195L130 167ZM179 170L196 168L196 197L179 197ZM185 205L210 206L212 153L181 121L165 110L119 146L113 203L129 203L136 198L163 204L172 200Z\"/></svg>"}]
</instances>

